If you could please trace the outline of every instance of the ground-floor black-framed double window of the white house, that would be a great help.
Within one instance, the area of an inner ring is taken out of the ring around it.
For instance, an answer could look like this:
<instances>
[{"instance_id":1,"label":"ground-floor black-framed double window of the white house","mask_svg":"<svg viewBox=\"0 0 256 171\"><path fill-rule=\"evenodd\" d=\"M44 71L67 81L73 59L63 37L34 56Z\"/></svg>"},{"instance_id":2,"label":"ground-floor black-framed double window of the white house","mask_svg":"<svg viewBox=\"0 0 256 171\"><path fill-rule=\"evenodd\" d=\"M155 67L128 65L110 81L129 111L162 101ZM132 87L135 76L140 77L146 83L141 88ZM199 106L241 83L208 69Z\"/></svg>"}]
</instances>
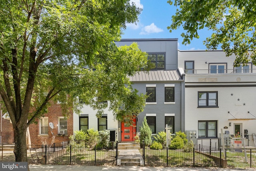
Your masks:
<instances>
[{"instance_id":1,"label":"ground-floor black-framed double window of the white house","mask_svg":"<svg viewBox=\"0 0 256 171\"><path fill-rule=\"evenodd\" d=\"M217 121L198 121L198 137L217 137Z\"/></svg>"}]
</instances>

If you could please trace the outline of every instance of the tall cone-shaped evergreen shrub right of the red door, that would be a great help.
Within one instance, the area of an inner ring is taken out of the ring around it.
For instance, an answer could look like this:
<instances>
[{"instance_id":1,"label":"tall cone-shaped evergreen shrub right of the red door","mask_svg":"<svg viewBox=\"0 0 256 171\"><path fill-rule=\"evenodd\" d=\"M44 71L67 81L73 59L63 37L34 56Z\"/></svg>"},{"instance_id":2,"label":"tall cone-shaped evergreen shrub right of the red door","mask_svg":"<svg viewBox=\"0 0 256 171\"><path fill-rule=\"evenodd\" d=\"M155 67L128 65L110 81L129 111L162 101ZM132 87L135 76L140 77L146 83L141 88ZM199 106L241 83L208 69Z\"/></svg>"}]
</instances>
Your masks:
<instances>
[{"instance_id":1,"label":"tall cone-shaped evergreen shrub right of the red door","mask_svg":"<svg viewBox=\"0 0 256 171\"><path fill-rule=\"evenodd\" d=\"M144 141L145 146L149 146L152 143L151 136L152 130L148 126L147 119L145 116L142 125L140 126L140 145L142 146L142 143Z\"/></svg>"}]
</instances>

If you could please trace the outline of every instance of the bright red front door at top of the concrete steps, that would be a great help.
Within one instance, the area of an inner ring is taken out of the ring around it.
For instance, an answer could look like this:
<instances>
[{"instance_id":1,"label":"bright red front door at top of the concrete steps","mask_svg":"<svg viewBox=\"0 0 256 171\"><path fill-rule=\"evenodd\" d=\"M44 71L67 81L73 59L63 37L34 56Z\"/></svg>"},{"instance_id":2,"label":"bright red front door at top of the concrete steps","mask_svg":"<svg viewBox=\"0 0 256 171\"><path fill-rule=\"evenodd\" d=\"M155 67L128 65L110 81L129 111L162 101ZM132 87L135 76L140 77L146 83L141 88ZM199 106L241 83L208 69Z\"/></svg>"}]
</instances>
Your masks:
<instances>
[{"instance_id":1,"label":"bright red front door at top of the concrete steps","mask_svg":"<svg viewBox=\"0 0 256 171\"><path fill-rule=\"evenodd\" d=\"M136 135L136 117L133 119L132 125L121 123L121 141L134 141Z\"/></svg>"}]
</instances>

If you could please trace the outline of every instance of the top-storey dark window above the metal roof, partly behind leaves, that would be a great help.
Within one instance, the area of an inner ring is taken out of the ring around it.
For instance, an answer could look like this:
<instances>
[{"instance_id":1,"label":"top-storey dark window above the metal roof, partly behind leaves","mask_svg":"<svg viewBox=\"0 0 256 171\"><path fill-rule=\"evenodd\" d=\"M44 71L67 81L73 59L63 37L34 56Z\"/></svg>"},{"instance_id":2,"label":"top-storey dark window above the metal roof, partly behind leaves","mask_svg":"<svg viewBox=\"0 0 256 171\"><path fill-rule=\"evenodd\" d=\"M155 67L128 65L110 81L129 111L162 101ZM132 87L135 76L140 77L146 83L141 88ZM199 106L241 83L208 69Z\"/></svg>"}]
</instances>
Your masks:
<instances>
[{"instance_id":1,"label":"top-storey dark window above the metal roof, partly behind leaves","mask_svg":"<svg viewBox=\"0 0 256 171\"><path fill-rule=\"evenodd\" d=\"M164 70L165 69L165 53L156 52L148 53L148 60L150 60L156 67L154 70Z\"/></svg>"}]
</instances>

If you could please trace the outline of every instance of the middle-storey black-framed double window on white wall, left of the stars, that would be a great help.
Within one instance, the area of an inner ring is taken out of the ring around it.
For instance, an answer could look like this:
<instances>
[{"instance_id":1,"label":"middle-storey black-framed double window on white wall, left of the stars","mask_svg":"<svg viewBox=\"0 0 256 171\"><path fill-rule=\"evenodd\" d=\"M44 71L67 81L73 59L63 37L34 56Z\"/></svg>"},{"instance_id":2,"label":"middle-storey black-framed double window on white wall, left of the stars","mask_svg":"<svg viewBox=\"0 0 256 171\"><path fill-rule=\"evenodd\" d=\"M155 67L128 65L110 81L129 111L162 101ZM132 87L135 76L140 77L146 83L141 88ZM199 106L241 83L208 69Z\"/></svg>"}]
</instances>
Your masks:
<instances>
[{"instance_id":1,"label":"middle-storey black-framed double window on white wall, left of the stars","mask_svg":"<svg viewBox=\"0 0 256 171\"><path fill-rule=\"evenodd\" d=\"M198 92L198 107L218 107L217 91Z\"/></svg>"}]
</instances>

